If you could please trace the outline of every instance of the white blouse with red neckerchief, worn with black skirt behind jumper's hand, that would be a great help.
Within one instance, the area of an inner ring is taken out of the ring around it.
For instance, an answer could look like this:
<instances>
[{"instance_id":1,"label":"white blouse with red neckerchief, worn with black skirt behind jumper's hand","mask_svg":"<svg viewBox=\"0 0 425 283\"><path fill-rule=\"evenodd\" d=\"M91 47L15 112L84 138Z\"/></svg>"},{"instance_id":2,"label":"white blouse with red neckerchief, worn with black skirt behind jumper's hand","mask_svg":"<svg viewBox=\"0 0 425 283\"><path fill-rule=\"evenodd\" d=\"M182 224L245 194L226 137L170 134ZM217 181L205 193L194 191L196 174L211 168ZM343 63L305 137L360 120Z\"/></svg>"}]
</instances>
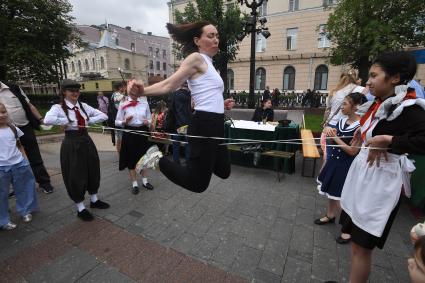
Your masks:
<instances>
[{"instance_id":1,"label":"white blouse with red neckerchief, worn with black skirt behind jumper's hand","mask_svg":"<svg viewBox=\"0 0 425 283\"><path fill-rule=\"evenodd\" d=\"M145 125L145 121L148 122L146 126L152 121L151 110L146 99L139 97L136 106L130 106L123 109L125 105L133 101L130 97L127 97L123 102L120 103L118 108L117 117L115 118L115 126L124 127L125 125L131 127L140 127ZM133 116L133 118L125 124L127 117Z\"/></svg>"}]
</instances>

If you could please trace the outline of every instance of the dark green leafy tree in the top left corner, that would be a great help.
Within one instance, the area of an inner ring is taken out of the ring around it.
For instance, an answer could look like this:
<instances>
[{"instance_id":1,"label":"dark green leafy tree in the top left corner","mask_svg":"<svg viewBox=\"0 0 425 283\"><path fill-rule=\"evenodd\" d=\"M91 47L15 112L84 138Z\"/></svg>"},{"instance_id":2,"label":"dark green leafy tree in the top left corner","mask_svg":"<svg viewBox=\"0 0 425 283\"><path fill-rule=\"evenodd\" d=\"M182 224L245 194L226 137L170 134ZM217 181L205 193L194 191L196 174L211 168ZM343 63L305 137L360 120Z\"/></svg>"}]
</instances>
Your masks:
<instances>
[{"instance_id":1,"label":"dark green leafy tree in the top left corner","mask_svg":"<svg viewBox=\"0 0 425 283\"><path fill-rule=\"evenodd\" d=\"M0 80L57 82L66 48L79 43L67 0L5 0L0 4Z\"/></svg>"}]
</instances>

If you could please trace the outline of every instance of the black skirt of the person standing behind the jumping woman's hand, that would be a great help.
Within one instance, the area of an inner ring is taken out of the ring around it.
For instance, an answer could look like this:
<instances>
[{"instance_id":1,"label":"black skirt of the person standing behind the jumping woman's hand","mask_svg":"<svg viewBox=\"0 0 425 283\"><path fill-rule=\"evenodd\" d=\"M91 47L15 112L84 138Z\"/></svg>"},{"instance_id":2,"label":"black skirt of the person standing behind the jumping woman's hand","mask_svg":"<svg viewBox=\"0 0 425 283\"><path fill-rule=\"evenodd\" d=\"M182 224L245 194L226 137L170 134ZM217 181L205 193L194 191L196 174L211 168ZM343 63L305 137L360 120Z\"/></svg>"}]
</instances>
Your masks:
<instances>
[{"instance_id":1,"label":"black skirt of the person standing behind the jumping woman's hand","mask_svg":"<svg viewBox=\"0 0 425 283\"><path fill-rule=\"evenodd\" d=\"M126 126L126 130L148 131L147 126L130 127ZM146 153L150 143L148 141L149 133L132 133L124 131L121 141L119 170L128 168L133 170L136 168L137 161Z\"/></svg>"}]
</instances>

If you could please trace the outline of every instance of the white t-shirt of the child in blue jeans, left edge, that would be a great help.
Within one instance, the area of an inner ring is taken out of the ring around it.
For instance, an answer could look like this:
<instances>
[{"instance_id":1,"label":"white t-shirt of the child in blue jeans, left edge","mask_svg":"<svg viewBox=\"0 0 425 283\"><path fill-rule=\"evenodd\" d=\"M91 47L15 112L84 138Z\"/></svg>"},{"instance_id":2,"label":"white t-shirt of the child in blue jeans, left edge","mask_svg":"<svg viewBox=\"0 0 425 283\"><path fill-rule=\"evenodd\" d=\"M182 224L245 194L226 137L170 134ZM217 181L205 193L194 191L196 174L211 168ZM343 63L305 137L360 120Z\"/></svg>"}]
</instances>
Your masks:
<instances>
[{"instance_id":1,"label":"white t-shirt of the child in blue jeans, left edge","mask_svg":"<svg viewBox=\"0 0 425 283\"><path fill-rule=\"evenodd\" d=\"M22 137L24 133L16 128L18 137ZM24 160L24 156L16 146L15 134L9 127L0 128L0 166L11 166L18 164Z\"/></svg>"}]
</instances>

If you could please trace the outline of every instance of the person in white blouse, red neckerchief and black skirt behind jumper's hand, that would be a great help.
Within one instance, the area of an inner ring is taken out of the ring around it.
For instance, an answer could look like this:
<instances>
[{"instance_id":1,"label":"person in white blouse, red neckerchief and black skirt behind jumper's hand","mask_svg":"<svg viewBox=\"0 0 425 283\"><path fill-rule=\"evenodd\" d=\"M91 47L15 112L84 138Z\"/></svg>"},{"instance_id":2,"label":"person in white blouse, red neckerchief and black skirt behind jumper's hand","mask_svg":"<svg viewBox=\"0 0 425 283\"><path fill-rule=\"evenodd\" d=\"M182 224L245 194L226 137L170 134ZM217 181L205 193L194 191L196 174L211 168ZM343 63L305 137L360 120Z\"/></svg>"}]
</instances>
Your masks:
<instances>
[{"instance_id":1,"label":"person in white blouse, red neckerchief and black skirt behind jumper's hand","mask_svg":"<svg viewBox=\"0 0 425 283\"><path fill-rule=\"evenodd\" d=\"M119 170L128 169L132 182L131 192L135 195L139 193L139 184L137 183L135 170L136 163L149 148L147 132L149 131L151 120L151 111L145 97L140 97L137 94L129 94L120 103L115 126L122 127L125 130L145 132L140 135L138 133L123 131L121 150L119 152ZM140 173L142 174L142 186L147 190L153 190L153 186L148 182L146 171L141 170Z\"/></svg>"}]
</instances>

